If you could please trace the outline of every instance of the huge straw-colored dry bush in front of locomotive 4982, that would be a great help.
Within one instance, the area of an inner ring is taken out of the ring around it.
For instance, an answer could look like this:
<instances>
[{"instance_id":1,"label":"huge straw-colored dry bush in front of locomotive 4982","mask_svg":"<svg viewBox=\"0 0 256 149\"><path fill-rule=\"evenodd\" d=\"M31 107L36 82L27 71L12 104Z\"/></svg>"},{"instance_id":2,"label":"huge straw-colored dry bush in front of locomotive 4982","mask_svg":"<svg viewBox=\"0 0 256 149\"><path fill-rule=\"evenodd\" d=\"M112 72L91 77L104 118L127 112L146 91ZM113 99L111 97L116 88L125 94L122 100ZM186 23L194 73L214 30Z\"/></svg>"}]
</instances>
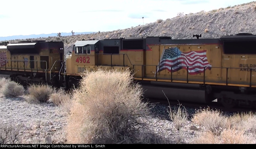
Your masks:
<instances>
[{"instance_id":1,"label":"huge straw-colored dry bush in front of locomotive 4982","mask_svg":"<svg viewBox=\"0 0 256 149\"><path fill-rule=\"evenodd\" d=\"M142 88L130 71L85 72L67 125L67 143L163 143L142 121L149 109L141 102Z\"/></svg>"}]
</instances>

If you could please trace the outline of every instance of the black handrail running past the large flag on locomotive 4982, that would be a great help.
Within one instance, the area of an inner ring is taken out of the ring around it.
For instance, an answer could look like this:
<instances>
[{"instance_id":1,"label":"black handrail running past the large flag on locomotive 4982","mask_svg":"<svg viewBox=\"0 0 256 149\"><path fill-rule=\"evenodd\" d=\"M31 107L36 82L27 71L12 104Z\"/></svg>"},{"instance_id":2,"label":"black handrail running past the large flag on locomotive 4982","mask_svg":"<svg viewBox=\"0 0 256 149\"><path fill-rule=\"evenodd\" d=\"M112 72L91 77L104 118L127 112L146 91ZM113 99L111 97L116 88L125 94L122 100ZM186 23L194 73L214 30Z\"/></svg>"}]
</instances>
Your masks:
<instances>
[{"instance_id":1,"label":"black handrail running past the large flag on locomotive 4982","mask_svg":"<svg viewBox=\"0 0 256 149\"><path fill-rule=\"evenodd\" d=\"M134 66L141 66L142 68L142 71L141 71L141 75L142 75L142 80L143 80L143 66L155 66L156 67L156 73L155 73L155 78L156 78L156 81L157 81L157 69L159 66L161 65L133 65L133 71L134 71ZM171 70L173 67L179 67L179 66L171 66ZM206 68L220 68L220 69L226 69L226 85L228 85L228 69L250 69L250 87L252 86L252 69L256 69L256 68L250 68L250 67L244 67L244 68L232 68L232 67L210 67L210 66L206 66L206 67L202 67L202 66L182 66L182 67L186 67L187 70L188 68L190 67L197 67L197 68L204 68L204 84L205 84L205 69ZM173 82L173 79L172 79L172 75L173 75L173 72L171 71L171 82ZM188 83L188 71L187 71L187 83Z\"/></svg>"}]
</instances>

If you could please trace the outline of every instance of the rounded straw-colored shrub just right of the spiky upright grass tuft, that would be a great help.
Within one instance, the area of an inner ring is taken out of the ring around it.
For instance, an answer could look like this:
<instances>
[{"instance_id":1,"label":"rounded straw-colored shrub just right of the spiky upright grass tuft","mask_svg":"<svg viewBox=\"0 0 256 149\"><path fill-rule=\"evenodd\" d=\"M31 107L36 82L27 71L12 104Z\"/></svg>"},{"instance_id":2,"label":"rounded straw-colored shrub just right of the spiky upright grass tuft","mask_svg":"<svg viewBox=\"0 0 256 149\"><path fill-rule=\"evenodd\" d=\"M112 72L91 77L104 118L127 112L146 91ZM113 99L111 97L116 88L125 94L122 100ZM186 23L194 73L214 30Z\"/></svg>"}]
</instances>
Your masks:
<instances>
[{"instance_id":1,"label":"rounded straw-colored shrub just right of the spiky upright grass tuft","mask_svg":"<svg viewBox=\"0 0 256 149\"><path fill-rule=\"evenodd\" d=\"M227 117L222 115L220 111L209 108L197 111L192 119L193 123L204 126L215 135L219 135L226 128L227 121Z\"/></svg>"}]
</instances>

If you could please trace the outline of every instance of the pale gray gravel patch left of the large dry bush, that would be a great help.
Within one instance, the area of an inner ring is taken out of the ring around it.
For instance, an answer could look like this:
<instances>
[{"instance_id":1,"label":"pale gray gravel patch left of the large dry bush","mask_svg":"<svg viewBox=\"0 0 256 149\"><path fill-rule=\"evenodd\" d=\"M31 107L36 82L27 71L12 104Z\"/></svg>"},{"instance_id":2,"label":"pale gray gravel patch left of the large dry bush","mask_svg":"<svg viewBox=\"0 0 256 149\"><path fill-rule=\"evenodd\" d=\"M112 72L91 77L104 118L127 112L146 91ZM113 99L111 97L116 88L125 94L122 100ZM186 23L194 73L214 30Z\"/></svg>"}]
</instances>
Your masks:
<instances>
[{"instance_id":1,"label":"pale gray gravel patch left of the large dry bush","mask_svg":"<svg viewBox=\"0 0 256 149\"><path fill-rule=\"evenodd\" d=\"M52 104L32 104L24 98L0 98L0 123L23 126L20 131L24 143L43 143L51 136L53 143L65 141L63 126L66 123L63 109Z\"/></svg>"}]
</instances>

